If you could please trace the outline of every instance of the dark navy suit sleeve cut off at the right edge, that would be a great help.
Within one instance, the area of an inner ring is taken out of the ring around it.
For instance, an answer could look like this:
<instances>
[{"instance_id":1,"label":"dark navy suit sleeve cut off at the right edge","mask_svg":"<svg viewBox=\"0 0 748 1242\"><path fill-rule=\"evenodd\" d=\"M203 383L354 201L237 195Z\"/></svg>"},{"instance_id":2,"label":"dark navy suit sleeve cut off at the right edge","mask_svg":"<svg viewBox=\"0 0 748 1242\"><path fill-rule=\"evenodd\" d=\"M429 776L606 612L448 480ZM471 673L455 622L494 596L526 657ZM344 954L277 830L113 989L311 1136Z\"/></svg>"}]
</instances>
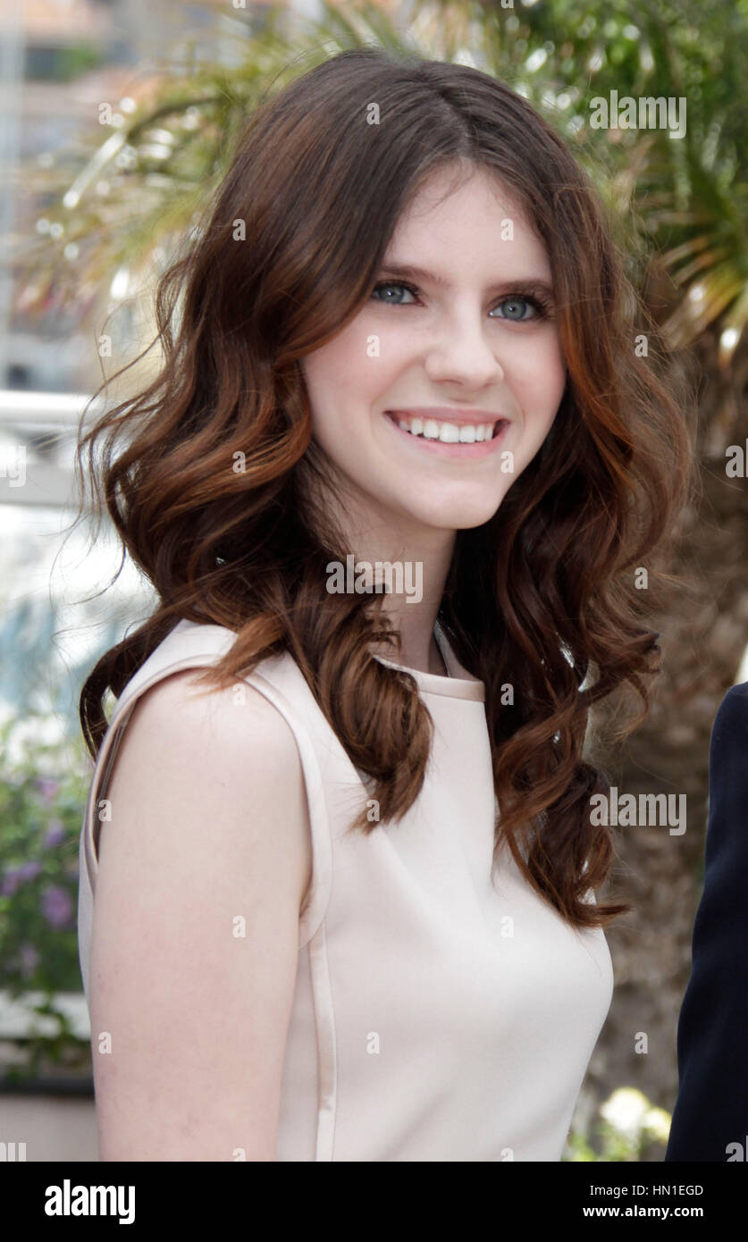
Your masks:
<instances>
[{"instance_id":1,"label":"dark navy suit sleeve cut off at the right edge","mask_svg":"<svg viewBox=\"0 0 748 1242\"><path fill-rule=\"evenodd\" d=\"M705 886L678 1021L680 1088L666 1160L748 1159L748 682L727 692L709 745Z\"/></svg>"}]
</instances>

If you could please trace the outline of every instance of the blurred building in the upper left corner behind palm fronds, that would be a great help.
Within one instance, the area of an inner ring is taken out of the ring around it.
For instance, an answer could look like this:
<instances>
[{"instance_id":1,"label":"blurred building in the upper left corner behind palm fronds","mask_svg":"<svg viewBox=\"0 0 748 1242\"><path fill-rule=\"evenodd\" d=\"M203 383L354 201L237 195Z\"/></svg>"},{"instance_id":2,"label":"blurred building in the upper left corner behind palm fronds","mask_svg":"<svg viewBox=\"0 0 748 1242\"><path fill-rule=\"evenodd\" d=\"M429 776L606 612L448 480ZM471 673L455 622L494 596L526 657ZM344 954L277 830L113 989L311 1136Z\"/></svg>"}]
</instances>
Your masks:
<instances>
[{"instance_id":1,"label":"blurred building in the upper left corner behind palm fronds","mask_svg":"<svg viewBox=\"0 0 748 1242\"><path fill-rule=\"evenodd\" d=\"M0 14L0 389L83 392L98 385L89 337L76 309L51 304L39 313L17 306L14 243L43 222L50 195L45 168L91 129L102 101L134 99L148 87L149 66L186 31L199 34L203 57L220 58L225 0L26 0ZM252 29L265 4L229 12ZM293 7L293 6L290 6ZM312 12L314 4L298 6ZM32 169L36 175L29 175Z\"/></svg>"}]
</instances>

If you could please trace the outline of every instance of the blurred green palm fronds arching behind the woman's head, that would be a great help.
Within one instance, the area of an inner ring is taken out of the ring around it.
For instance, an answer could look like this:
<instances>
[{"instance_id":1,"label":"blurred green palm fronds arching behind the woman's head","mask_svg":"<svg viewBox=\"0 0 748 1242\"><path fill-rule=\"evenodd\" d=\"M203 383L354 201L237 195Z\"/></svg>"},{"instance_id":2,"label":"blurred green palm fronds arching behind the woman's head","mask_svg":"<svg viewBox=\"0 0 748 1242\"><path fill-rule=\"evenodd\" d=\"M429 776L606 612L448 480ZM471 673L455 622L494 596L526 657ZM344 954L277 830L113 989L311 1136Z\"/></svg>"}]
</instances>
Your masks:
<instances>
[{"instance_id":1,"label":"blurred green palm fronds arching behind the woman's head","mask_svg":"<svg viewBox=\"0 0 748 1242\"><path fill-rule=\"evenodd\" d=\"M640 287L656 261L670 345L718 322L729 365L748 320L748 0L319 7L319 20L291 20L275 5L261 22L251 6L205 10L209 24L185 24L137 99L109 101L53 166L29 166L50 205L22 260L26 308L52 299L87 314L114 272L133 287L150 279L199 227L252 107L328 56L374 43L465 61L526 96L595 181ZM591 127L593 101L611 91L685 98L685 135Z\"/></svg>"}]
</instances>

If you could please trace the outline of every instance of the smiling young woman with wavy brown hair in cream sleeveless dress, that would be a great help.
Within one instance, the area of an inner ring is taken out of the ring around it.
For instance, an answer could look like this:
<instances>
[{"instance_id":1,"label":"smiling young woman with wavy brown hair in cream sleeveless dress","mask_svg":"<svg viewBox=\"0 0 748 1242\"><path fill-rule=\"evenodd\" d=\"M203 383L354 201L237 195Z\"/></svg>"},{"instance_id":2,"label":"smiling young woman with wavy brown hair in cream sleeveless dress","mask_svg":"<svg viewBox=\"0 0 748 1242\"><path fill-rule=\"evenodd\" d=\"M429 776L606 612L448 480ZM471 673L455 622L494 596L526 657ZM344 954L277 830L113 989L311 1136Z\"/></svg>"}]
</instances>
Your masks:
<instances>
[{"instance_id":1,"label":"smiling young woman with wavy brown hair in cream sleeveless dress","mask_svg":"<svg viewBox=\"0 0 748 1242\"><path fill-rule=\"evenodd\" d=\"M81 442L159 597L81 698L102 1159L560 1159L626 908L588 713L646 707L688 466L634 307L492 77L347 51L251 116Z\"/></svg>"}]
</instances>

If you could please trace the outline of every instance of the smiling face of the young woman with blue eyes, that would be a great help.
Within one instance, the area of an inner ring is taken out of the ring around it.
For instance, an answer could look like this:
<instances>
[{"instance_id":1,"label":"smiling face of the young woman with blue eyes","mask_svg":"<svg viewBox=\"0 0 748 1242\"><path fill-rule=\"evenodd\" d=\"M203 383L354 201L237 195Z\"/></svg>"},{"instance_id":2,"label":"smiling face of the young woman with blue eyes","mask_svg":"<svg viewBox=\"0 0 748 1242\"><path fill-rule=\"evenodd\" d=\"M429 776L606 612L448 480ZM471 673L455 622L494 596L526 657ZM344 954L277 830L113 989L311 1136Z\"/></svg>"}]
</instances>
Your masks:
<instances>
[{"instance_id":1,"label":"smiling face of the young woman with blue eyes","mask_svg":"<svg viewBox=\"0 0 748 1242\"><path fill-rule=\"evenodd\" d=\"M487 522L565 384L553 304L543 315L529 297L552 299L543 243L482 169L439 201L450 175L435 174L400 217L372 298L302 360L313 437L344 507L398 529Z\"/></svg>"}]
</instances>

